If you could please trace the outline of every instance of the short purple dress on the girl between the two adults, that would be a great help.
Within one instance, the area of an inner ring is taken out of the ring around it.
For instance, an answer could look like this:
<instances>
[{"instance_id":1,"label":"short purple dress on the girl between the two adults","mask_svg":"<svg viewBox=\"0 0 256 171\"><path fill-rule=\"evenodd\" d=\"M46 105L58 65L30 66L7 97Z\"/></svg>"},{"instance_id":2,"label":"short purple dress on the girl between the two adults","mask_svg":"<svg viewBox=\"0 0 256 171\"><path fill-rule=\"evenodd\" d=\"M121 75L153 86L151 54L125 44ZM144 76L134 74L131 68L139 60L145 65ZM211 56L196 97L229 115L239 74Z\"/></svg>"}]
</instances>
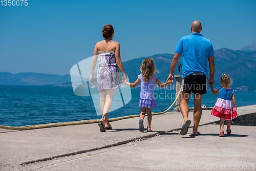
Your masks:
<instances>
[{"instance_id":1,"label":"short purple dress on the girl between the two adults","mask_svg":"<svg viewBox=\"0 0 256 171\"><path fill-rule=\"evenodd\" d=\"M153 79L148 80L148 82L143 81L142 74L139 76L139 80L141 81L141 90L140 90L140 108L157 108L157 102L155 99L154 92L154 83L157 79L156 75L153 75Z\"/></svg>"}]
</instances>

